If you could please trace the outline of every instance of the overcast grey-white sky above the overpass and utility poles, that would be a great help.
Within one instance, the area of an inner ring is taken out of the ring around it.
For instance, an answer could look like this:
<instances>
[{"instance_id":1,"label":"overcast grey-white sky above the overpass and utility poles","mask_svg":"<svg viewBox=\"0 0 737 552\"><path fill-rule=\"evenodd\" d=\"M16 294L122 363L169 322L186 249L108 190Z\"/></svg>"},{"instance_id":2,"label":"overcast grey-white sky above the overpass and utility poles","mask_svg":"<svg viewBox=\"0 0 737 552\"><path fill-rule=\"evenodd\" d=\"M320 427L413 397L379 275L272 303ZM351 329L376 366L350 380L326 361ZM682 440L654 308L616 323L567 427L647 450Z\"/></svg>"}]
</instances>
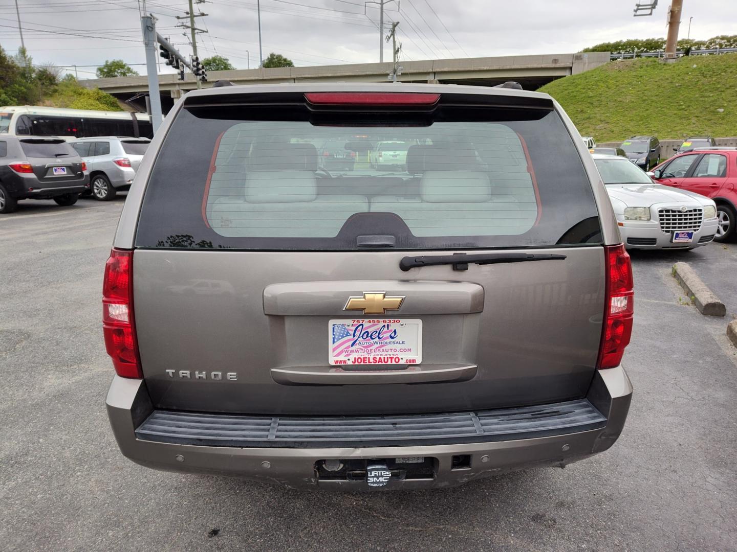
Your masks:
<instances>
[{"instance_id":1,"label":"overcast grey-white sky above the overpass and utility poles","mask_svg":"<svg viewBox=\"0 0 737 552\"><path fill-rule=\"evenodd\" d=\"M378 0L377 0L378 1ZM645 2L648 0L640 0ZM123 59L145 73L136 0L18 0L24 39L34 63L77 64L79 78L94 66ZM399 4L399 10L397 10ZM400 0L386 4L386 18L399 21L403 60L511 54L564 54L610 40L664 37L668 0L650 17L632 16L636 0ZM189 35L176 28L186 0L149 0L157 30L180 51L191 53ZM208 0L195 4L200 58L220 54L237 68L259 64L256 0ZM360 0L261 0L264 57L284 54L296 66L379 60L379 10ZM685 0L680 37L737 32L737 1ZM0 0L0 45L21 45L14 0ZM391 60L391 46L385 46ZM74 72L73 68L67 69ZM161 63L160 72L172 72Z\"/></svg>"}]
</instances>

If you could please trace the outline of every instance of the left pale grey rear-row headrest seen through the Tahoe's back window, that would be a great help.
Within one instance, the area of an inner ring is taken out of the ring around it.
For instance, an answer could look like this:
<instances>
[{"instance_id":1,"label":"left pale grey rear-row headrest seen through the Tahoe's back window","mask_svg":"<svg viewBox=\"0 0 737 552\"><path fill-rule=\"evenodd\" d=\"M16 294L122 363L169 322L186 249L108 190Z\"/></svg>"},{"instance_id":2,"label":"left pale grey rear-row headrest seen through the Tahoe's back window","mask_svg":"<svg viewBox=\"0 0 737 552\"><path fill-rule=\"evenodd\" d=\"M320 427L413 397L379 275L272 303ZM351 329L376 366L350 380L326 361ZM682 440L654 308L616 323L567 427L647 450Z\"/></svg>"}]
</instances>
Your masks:
<instances>
[{"instance_id":1,"label":"left pale grey rear-row headrest seen through the Tahoe's back window","mask_svg":"<svg viewBox=\"0 0 737 552\"><path fill-rule=\"evenodd\" d=\"M317 190L313 171L248 171L245 174L248 203L315 201Z\"/></svg>"}]
</instances>

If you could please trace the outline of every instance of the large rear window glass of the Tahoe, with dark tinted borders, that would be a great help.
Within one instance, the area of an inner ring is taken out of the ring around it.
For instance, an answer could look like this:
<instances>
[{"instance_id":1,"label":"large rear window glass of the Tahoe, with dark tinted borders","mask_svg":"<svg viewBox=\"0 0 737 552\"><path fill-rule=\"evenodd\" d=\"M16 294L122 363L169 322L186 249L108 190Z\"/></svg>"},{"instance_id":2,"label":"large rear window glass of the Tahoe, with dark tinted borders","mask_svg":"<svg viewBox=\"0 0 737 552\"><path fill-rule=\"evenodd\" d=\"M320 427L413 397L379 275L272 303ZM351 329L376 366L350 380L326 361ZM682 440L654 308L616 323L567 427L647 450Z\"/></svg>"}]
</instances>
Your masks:
<instances>
[{"instance_id":1,"label":"large rear window glass of the Tahoe, with dark tinted borders","mask_svg":"<svg viewBox=\"0 0 737 552\"><path fill-rule=\"evenodd\" d=\"M178 113L137 247L350 250L366 235L408 250L601 241L581 159L551 110L447 108L425 124L234 113ZM326 144L343 146L348 162L324 163ZM395 146L401 164L377 163L377 147Z\"/></svg>"}]
</instances>

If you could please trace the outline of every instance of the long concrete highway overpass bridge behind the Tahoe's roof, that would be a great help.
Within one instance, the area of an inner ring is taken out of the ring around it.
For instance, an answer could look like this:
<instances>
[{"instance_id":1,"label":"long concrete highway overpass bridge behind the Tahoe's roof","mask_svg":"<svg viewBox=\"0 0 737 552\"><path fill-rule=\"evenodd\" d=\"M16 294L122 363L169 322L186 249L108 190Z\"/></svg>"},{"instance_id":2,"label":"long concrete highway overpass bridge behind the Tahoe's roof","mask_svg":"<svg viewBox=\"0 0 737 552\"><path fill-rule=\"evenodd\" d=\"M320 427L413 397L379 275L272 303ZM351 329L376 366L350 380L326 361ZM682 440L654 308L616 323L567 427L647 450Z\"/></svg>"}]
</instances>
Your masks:
<instances>
[{"instance_id":1,"label":"long concrete highway overpass bridge behind the Tahoe's roof","mask_svg":"<svg viewBox=\"0 0 737 552\"><path fill-rule=\"evenodd\" d=\"M537 90L552 80L593 69L608 61L609 52L402 61L402 74L398 80L478 86L494 86L507 80L515 80L526 90ZM209 82L204 85L212 86L218 79L226 79L236 85L387 82L391 66L390 62L210 71L207 74ZM88 79L81 83L88 88L98 87L139 109L145 105L144 96L148 93L147 77ZM158 85L164 113L182 93L197 88L192 74L188 74L184 81L178 80L178 74L161 74L158 76Z\"/></svg>"}]
</instances>

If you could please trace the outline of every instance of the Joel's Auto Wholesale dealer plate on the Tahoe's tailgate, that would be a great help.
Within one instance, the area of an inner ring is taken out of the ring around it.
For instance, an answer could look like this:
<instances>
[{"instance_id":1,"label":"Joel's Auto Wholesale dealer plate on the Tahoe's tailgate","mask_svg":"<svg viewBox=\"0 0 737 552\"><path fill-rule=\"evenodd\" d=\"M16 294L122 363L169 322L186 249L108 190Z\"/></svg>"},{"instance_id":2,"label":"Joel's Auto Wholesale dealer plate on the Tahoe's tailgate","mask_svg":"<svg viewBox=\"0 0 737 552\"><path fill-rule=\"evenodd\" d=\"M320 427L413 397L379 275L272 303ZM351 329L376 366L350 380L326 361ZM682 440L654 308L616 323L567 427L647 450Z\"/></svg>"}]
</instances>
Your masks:
<instances>
[{"instance_id":1,"label":"Joel's Auto Wholesale dealer plate on the Tahoe's tailgate","mask_svg":"<svg viewBox=\"0 0 737 552\"><path fill-rule=\"evenodd\" d=\"M330 320L328 351L331 366L419 364L422 361L422 320Z\"/></svg>"}]
</instances>

